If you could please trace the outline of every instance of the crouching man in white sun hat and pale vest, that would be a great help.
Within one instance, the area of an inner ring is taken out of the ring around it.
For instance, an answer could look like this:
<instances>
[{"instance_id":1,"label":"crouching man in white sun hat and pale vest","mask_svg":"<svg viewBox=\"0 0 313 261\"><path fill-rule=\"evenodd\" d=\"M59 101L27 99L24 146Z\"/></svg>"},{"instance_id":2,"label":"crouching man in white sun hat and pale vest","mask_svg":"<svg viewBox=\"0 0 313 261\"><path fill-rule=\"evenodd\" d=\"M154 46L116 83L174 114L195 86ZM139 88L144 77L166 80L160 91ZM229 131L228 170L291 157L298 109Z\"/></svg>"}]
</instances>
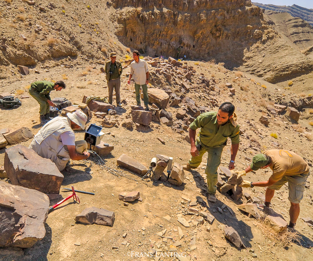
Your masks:
<instances>
[{"instance_id":1,"label":"crouching man in white sun hat and pale vest","mask_svg":"<svg viewBox=\"0 0 313 261\"><path fill-rule=\"evenodd\" d=\"M40 157L49 158L59 169L63 170L66 163L72 160L87 159L85 140L75 141L73 129L85 129L87 116L75 111L67 113L67 117L55 117L46 123L35 135L28 148L33 149Z\"/></svg>"}]
</instances>

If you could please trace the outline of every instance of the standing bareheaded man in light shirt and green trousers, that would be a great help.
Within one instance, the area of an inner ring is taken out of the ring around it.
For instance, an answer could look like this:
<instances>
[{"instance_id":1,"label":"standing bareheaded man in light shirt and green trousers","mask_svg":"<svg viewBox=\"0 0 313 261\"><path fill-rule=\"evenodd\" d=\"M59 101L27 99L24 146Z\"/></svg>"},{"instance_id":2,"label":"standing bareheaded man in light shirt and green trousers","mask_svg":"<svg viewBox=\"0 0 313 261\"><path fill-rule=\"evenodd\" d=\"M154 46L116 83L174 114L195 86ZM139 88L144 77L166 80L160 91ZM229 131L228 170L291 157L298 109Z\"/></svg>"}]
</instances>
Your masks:
<instances>
[{"instance_id":1,"label":"standing bareheaded man in light shirt and green trousers","mask_svg":"<svg viewBox=\"0 0 313 261\"><path fill-rule=\"evenodd\" d=\"M129 75L128 84L131 84L131 77L135 81L135 92L136 92L136 101L137 106L141 106L140 101L140 87L142 88L143 93L143 102L145 103L146 111L149 111L149 97L148 97L148 87L149 83L149 71L148 64L146 61L139 58L140 53L138 51L133 52L134 61L131 63L131 73Z\"/></svg>"}]
</instances>

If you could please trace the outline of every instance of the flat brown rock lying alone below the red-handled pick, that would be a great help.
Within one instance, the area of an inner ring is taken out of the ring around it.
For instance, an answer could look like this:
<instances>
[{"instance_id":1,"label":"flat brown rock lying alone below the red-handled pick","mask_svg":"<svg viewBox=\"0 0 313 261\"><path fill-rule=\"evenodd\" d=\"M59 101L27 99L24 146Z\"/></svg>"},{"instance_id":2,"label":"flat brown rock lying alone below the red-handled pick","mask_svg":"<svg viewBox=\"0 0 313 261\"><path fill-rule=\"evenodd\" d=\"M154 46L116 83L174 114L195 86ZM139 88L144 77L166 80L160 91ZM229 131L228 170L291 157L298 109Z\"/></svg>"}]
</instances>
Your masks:
<instances>
[{"instance_id":1,"label":"flat brown rock lying alone below the red-handled pick","mask_svg":"<svg viewBox=\"0 0 313 261\"><path fill-rule=\"evenodd\" d=\"M85 208L75 217L76 222L83 224L98 224L112 227L115 220L115 213L103 208Z\"/></svg>"}]
</instances>

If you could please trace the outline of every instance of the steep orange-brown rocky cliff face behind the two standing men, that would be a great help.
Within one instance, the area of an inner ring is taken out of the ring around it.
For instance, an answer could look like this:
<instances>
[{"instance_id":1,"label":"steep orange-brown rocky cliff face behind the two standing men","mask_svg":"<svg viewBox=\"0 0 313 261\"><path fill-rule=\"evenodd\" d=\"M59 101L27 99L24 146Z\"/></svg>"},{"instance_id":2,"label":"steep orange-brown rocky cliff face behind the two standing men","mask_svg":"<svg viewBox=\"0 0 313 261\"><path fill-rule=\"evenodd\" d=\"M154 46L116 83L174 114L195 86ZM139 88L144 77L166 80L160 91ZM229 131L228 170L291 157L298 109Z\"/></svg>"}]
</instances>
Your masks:
<instances>
[{"instance_id":1,"label":"steep orange-brown rocky cliff face behind the two standing men","mask_svg":"<svg viewBox=\"0 0 313 261\"><path fill-rule=\"evenodd\" d=\"M262 37L262 12L245 0L113 0L126 46L149 55L210 57L240 63L244 48Z\"/></svg>"}]
</instances>

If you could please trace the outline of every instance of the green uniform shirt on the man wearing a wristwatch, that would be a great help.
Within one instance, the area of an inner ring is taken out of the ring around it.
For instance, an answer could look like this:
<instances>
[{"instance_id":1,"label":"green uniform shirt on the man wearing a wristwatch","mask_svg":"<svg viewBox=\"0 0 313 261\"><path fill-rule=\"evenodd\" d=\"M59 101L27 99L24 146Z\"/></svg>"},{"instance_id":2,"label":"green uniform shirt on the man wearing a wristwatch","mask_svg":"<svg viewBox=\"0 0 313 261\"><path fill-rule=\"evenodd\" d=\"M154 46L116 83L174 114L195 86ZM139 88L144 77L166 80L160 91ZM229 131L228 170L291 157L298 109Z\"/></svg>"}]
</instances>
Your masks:
<instances>
[{"instance_id":1,"label":"green uniform shirt on the man wearing a wristwatch","mask_svg":"<svg viewBox=\"0 0 313 261\"><path fill-rule=\"evenodd\" d=\"M225 146L228 137L231 139L232 144L238 144L240 142L239 125L235 127L233 123L228 120L226 124L217 128L216 115L217 112L202 113L190 124L189 128L192 130L200 128L200 141L207 147ZM236 114L234 113L234 120L235 116Z\"/></svg>"}]
</instances>

